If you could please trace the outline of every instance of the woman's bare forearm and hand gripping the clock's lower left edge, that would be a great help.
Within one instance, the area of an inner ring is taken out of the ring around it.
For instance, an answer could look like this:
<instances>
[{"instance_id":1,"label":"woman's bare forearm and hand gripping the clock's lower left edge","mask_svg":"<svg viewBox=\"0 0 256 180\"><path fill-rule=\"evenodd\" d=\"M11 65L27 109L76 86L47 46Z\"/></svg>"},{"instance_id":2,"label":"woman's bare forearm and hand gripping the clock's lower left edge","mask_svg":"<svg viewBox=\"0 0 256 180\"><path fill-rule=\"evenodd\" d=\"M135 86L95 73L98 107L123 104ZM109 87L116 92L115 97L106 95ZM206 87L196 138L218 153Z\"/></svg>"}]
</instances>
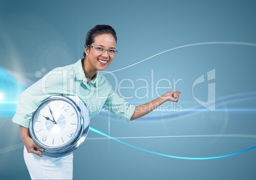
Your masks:
<instances>
[{"instance_id":1,"label":"woman's bare forearm and hand gripping the clock's lower left edge","mask_svg":"<svg viewBox=\"0 0 256 180\"><path fill-rule=\"evenodd\" d=\"M43 148L34 142L34 140L29 136L29 129L22 125L20 125L20 139L22 139L28 153L34 153L39 157L43 157L43 155L38 151L43 151Z\"/></svg>"}]
</instances>

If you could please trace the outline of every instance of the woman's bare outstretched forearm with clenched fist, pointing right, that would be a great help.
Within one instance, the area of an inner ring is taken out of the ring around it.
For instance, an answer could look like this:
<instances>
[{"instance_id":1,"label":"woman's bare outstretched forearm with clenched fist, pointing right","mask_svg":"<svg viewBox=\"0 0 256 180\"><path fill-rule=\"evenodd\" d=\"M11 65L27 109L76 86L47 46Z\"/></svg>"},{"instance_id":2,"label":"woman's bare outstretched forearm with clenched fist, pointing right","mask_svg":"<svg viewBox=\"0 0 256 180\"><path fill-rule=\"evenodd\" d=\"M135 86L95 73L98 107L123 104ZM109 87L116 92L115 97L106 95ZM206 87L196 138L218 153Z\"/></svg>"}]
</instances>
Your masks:
<instances>
[{"instance_id":1,"label":"woman's bare outstretched forearm with clenched fist, pointing right","mask_svg":"<svg viewBox=\"0 0 256 180\"><path fill-rule=\"evenodd\" d=\"M143 117L144 115L152 112L152 110L162 105L166 101L178 102L180 93L180 91L168 91L166 94L163 94L162 96L153 101L150 101L143 105L136 106L135 111L131 117L131 120Z\"/></svg>"}]
</instances>

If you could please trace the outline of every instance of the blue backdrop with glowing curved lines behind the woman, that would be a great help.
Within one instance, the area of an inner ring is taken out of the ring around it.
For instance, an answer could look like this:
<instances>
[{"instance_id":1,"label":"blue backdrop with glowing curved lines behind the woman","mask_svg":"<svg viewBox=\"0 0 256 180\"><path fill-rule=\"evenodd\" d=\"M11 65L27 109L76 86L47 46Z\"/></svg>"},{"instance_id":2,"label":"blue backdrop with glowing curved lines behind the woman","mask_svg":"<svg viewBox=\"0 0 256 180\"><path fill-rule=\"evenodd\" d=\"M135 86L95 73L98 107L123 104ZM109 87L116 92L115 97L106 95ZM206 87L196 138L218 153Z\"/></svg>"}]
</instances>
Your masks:
<instances>
[{"instance_id":1,"label":"blue backdrop with glowing curved lines behind the woman","mask_svg":"<svg viewBox=\"0 0 256 180\"><path fill-rule=\"evenodd\" d=\"M255 7L255 1L0 1L0 179L29 179L11 122L18 95L52 68L82 58L85 35L97 24L117 31L119 52L107 68L114 75L106 77L113 88L134 82L118 92L132 97L127 101L165 93L155 93L160 79L181 79L182 94L165 104L173 112L128 123L108 112L94 117L90 125L116 139L89 132L75 151L74 179L255 179ZM210 70L215 79L208 82ZM207 101L208 83L215 83L215 111L193 96L201 75L194 96ZM136 91L145 86L138 79L149 88Z\"/></svg>"}]
</instances>

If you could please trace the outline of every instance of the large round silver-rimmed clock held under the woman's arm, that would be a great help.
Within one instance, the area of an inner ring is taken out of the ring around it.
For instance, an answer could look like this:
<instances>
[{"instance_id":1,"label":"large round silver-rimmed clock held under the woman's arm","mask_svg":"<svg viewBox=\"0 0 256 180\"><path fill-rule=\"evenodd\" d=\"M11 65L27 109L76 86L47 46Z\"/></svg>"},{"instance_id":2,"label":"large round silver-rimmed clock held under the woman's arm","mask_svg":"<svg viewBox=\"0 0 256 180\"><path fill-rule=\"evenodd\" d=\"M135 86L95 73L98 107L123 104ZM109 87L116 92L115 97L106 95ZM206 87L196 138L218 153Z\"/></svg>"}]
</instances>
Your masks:
<instances>
[{"instance_id":1,"label":"large round silver-rimmed clock held under the woman's arm","mask_svg":"<svg viewBox=\"0 0 256 180\"><path fill-rule=\"evenodd\" d=\"M73 153L89 132L89 113L77 96L51 96L39 105L29 133L44 148L43 155L63 157Z\"/></svg>"}]
</instances>

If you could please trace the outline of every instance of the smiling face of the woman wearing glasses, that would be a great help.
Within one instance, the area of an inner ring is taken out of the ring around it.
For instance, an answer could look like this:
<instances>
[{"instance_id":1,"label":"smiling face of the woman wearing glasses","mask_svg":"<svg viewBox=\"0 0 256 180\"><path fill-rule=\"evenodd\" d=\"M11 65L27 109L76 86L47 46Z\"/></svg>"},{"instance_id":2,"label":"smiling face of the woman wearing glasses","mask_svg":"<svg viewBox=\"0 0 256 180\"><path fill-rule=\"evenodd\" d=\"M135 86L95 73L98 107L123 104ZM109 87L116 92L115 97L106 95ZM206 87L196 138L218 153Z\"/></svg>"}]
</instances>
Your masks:
<instances>
[{"instance_id":1,"label":"smiling face of the woman wearing glasses","mask_svg":"<svg viewBox=\"0 0 256 180\"><path fill-rule=\"evenodd\" d=\"M117 43L113 35L101 34L94 37L94 43L90 44L90 46L115 50L116 44ZM113 58L115 58L115 55L109 55L108 51L101 53L97 51L97 49L89 48L88 46L85 46L85 54L85 58L89 60L89 66L91 70L95 71L104 70L108 67L108 65L110 65Z\"/></svg>"}]
</instances>

